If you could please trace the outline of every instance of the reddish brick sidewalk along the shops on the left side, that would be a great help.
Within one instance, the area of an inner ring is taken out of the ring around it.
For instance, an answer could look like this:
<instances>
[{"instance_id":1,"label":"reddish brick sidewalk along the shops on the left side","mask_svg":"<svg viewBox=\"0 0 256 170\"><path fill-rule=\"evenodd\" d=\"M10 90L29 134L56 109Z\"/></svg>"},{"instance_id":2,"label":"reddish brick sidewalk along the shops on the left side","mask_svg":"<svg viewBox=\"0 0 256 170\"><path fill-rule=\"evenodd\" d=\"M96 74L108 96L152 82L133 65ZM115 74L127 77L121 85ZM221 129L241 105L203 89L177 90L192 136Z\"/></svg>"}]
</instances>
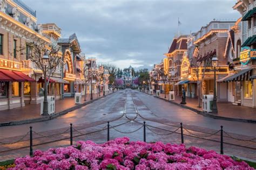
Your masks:
<instances>
[{"instance_id":1,"label":"reddish brick sidewalk along the shops on the left side","mask_svg":"<svg viewBox=\"0 0 256 170\"><path fill-rule=\"evenodd\" d=\"M86 101L84 101L84 95L82 96L82 104L75 104L74 97L65 97L64 100L57 100L55 105L55 113L51 116L41 116L40 115L40 104L26 104L25 107L16 108L11 110L2 110L0 114L0 126L6 125L17 125L26 124L32 122L47 121L49 119L56 118L58 116L64 115L72 110L83 107L99 98L103 97L103 94L93 94L93 100L90 100L91 95L86 95Z\"/></svg>"}]
</instances>

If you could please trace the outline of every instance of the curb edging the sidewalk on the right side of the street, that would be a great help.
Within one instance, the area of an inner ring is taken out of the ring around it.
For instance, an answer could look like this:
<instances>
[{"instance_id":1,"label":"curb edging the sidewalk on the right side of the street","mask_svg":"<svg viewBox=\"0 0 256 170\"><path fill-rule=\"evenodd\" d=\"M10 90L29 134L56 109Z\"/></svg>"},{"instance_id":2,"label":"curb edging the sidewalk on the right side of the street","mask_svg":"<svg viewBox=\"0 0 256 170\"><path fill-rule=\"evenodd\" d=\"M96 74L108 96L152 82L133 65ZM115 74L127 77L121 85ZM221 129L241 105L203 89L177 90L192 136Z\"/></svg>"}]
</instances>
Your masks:
<instances>
[{"instance_id":1,"label":"curb edging the sidewalk on the right side of the street","mask_svg":"<svg viewBox=\"0 0 256 170\"><path fill-rule=\"evenodd\" d=\"M142 91L139 91L139 92L140 92L140 93L147 94L147 93L142 92ZM150 94L147 94L147 95L150 95ZM150 96L156 97L155 95L150 95ZM194 108L191 108L191 107L187 107L187 106L184 105L184 104L179 104L179 103L176 103L176 102L173 102L173 101L166 100L166 99L161 98L161 97L156 97L156 98L159 98L160 100L164 100L164 101L166 101L166 102L169 102L169 103L178 105L178 106L181 107L181 108L189 109L189 110L194 111L194 112L196 112L197 114L203 115L203 116L205 116L205 117L211 117L211 118L214 118L214 119L221 119L221 120L225 120L225 121L256 123L256 120L253 120L253 119L240 119L240 118L231 118L231 117L217 116L217 115L209 114L209 113L207 113L207 112L200 111L200 110L197 110L197 109L194 109Z\"/></svg>"}]
</instances>

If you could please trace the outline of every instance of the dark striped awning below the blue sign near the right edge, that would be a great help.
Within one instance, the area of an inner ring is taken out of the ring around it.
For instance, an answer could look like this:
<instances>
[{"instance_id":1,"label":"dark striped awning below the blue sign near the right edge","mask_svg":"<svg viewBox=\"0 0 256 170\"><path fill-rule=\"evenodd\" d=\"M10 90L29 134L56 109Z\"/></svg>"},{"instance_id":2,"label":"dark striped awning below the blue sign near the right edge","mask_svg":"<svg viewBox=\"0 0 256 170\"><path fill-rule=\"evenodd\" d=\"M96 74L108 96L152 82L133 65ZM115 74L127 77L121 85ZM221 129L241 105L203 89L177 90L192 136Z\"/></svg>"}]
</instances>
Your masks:
<instances>
[{"instance_id":1,"label":"dark striped awning below the blue sign near the right edge","mask_svg":"<svg viewBox=\"0 0 256 170\"><path fill-rule=\"evenodd\" d=\"M223 81L221 82L250 80L251 74L252 74L252 69L244 69L238 73L225 77L225 79L223 79Z\"/></svg>"}]
</instances>

